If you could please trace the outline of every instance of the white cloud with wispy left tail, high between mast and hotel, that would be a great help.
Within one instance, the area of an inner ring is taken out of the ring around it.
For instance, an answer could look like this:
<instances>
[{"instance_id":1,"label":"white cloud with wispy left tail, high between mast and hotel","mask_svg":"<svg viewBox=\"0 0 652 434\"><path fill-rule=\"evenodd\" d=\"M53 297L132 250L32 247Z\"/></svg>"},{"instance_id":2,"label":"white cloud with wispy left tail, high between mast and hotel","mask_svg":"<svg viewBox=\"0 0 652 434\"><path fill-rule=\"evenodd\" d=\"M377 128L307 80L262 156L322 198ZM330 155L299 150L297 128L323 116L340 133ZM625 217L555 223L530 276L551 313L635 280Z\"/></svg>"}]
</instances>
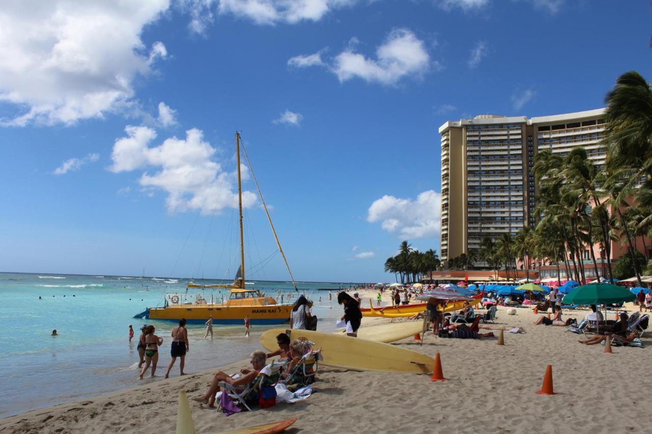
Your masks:
<instances>
[{"instance_id":1,"label":"white cloud with wispy left tail, high between mast and hotel","mask_svg":"<svg viewBox=\"0 0 652 434\"><path fill-rule=\"evenodd\" d=\"M352 38L348 47L329 63L321 59L321 51L312 55L300 55L289 59L288 65L296 67L325 66L340 82L362 78L370 83L394 85L406 76L422 76L431 66L425 44L408 29L395 29L385 42L376 49L376 59L356 52L357 39ZM433 66L438 68L438 63Z\"/></svg>"}]
</instances>

